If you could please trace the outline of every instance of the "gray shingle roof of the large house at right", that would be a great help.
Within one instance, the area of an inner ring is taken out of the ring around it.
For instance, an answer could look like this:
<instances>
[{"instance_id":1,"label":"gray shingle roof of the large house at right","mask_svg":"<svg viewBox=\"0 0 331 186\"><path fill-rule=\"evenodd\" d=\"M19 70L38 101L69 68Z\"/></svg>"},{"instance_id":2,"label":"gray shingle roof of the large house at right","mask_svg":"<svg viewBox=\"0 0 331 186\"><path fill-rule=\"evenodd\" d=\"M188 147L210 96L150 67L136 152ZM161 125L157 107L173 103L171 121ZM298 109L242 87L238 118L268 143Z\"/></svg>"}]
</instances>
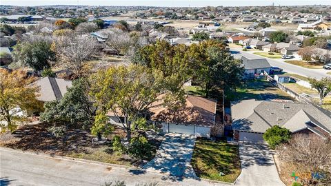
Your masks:
<instances>
[{"instance_id":1,"label":"gray shingle roof of the large house at right","mask_svg":"<svg viewBox=\"0 0 331 186\"><path fill-rule=\"evenodd\" d=\"M311 104L250 100L232 103L231 110L234 130L265 132L279 125L297 132L311 122L331 133L331 112Z\"/></svg>"}]
</instances>

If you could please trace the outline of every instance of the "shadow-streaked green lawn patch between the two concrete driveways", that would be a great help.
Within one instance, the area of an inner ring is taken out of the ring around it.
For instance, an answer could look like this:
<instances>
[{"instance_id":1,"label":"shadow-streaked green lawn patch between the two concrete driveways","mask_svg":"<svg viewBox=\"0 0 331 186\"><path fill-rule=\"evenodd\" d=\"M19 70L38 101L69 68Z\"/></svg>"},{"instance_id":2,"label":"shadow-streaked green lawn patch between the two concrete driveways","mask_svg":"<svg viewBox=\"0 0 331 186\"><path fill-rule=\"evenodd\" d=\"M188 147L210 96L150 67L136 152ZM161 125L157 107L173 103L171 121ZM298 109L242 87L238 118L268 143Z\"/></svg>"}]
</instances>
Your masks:
<instances>
[{"instance_id":1,"label":"shadow-streaked green lawn patch between the two concrete driveways","mask_svg":"<svg viewBox=\"0 0 331 186\"><path fill-rule=\"evenodd\" d=\"M191 164L200 178L233 183L241 172L238 145L197 139Z\"/></svg>"}]
</instances>

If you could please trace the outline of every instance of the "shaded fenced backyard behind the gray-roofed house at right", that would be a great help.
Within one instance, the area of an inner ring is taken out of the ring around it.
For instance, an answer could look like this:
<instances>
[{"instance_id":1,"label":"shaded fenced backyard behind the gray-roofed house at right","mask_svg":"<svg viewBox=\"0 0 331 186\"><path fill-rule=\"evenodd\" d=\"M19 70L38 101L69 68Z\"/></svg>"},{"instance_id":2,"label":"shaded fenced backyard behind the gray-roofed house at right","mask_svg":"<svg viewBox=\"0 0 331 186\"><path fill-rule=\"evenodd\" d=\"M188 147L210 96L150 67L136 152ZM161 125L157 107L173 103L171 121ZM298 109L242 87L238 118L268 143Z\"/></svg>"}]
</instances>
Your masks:
<instances>
[{"instance_id":1,"label":"shaded fenced backyard behind the gray-roofed house at right","mask_svg":"<svg viewBox=\"0 0 331 186\"><path fill-rule=\"evenodd\" d=\"M291 96L272 85L269 81L248 81L243 87L237 88L237 92L227 95L230 101L243 99L292 99Z\"/></svg>"}]
</instances>

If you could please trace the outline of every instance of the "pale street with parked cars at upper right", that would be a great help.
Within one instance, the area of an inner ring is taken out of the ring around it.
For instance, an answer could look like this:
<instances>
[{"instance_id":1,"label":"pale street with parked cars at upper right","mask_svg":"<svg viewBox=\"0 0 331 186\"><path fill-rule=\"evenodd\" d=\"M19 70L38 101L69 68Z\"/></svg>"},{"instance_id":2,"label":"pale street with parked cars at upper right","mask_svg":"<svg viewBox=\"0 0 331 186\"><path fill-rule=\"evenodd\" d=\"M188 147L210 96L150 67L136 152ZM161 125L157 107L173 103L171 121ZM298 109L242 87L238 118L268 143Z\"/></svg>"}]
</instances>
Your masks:
<instances>
[{"instance_id":1,"label":"pale street with parked cars at upper right","mask_svg":"<svg viewBox=\"0 0 331 186\"><path fill-rule=\"evenodd\" d=\"M239 51L239 49L237 49L237 48L230 48L230 50L231 50L232 54L242 55L248 59L265 58L263 56L252 54L250 52ZM284 72L299 74L301 76L312 77L312 78L317 78L317 79L321 79L323 77L331 77L331 75L326 74L327 72L331 72L331 70L303 68L298 65L292 65L289 63L285 63L285 62L283 62L283 59L269 59L269 58L265 58L265 59L268 60L270 65L272 65L274 67L283 68Z\"/></svg>"}]
</instances>

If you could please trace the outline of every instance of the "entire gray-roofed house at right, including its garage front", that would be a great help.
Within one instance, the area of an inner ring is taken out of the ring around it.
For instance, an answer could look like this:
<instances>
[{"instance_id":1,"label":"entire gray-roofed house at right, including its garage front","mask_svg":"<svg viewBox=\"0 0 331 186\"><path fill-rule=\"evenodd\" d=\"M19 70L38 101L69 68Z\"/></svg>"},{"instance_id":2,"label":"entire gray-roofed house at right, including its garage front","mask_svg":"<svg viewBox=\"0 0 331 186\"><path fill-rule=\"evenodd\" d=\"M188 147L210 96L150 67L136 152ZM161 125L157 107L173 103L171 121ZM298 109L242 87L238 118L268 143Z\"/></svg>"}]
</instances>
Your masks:
<instances>
[{"instance_id":1,"label":"entire gray-roofed house at right, including its garage front","mask_svg":"<svg viewBox=\"0 0 331 186\"><path fill-rule=\"evenodd\" d=\"M331 138L331 112L312 104L256 101L232 102L232 130L239 141L263 142L263 134L274 125L293 134Z\"/></svg>"}]
</instances>

